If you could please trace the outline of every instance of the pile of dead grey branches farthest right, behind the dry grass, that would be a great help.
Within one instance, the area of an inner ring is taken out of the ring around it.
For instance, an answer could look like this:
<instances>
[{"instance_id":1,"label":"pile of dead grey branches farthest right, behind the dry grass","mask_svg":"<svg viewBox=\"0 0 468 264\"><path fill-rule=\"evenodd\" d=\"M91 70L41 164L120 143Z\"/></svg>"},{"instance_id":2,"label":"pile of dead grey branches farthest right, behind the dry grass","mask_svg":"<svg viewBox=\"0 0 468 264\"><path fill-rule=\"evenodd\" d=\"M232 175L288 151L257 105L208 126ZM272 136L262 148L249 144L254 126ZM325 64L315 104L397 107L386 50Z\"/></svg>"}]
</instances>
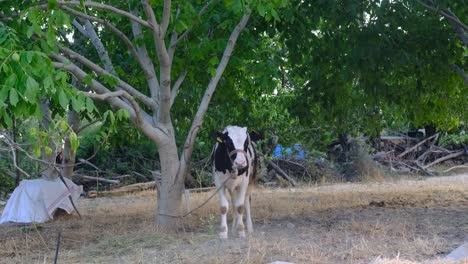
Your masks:
<instances>
[{"instance_id":1,"label":"pile of dead grey branches farthest right, behind the dry grass","mask_svg":"<svg viewBox=\"0 0 468 264\"><path fill-rule=\"evenodd\" d=\"M411 137L381 137L373 146L376 153L373 159L378 163L389 167L396 172L422 172L426 175L434 175L435 165L448 163L451 168L468 167L466 163L468 147L447 149L437 145L439 134L426 139Z\"/></svg>"}]
</instances>

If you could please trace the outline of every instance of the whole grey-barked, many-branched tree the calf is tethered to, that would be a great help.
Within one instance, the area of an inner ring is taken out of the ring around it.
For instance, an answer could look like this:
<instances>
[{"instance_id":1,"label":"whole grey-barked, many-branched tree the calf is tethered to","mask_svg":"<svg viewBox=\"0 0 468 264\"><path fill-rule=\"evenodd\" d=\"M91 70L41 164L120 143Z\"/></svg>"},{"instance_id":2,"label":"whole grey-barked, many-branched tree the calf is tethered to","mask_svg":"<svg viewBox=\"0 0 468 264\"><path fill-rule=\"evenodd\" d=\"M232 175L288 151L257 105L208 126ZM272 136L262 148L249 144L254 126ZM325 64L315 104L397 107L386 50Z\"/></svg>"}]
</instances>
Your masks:
<instances>
[{"instance_id":1,"label":"whole grey-barked, many-branched tree the calf is tethered to","mask_svg":"<svg viewBox=\"0 0 468 264\"><path fill-rule=\"evenodd\" d=\"M133 124L155 143L161 163L161 176L156 179L156 223L160 227L174 228L181 215L184 177L195 138L237 39L252 10L262 10L264 16L272 14L277 18L274 9L285 2L237 0L200 3L166 0L164 3L154 3L143 0L141 3L129 1L125 4L119 1L49 1L47 4L21 3L13 8L2 8L7 10L7 14L2 15L10 19L9 24L19 30L23 40L32 39L29 49L45 52L52 61L50 65L72 74L89 90L79 93L74 88L76 95L84 94L88 98L104 100L114 109L127 110ZM207 27L203 23L206 13L217 16L220 24ZM20 19L17 19L17 15L20 15ZM73 50L70 45L73 41L66 40L70 37L67 34L72 34L72 21L75 26L84 24L88 28L94 27L97 34L88 36L92 41L102 42L108 39L109 34L114 36L112 41L106 43L107 46L101 45L102 49L98 49L99 56L107 53L108 59L101 57L98 61L94 52ZM200 32L198 25L207 31ZM207 50L203 46L193 46L210 42L216 42L217 46ZM219 53L215 52L220 50L220 46L223 54L218 60ZM195 55L194 59L189 59L191 52ZM187 73L197 68L193 63L207 55L215 58L212 60L213 66L208 69L210 80L195 116L189 117L193 121L179 153L172 107ZM112 57L120 58L112 63L115 71L101 66L102 63L109 65ZM142 86L141 79L132 79L133 76L126 74L127 71L134 72L132 67L135 66L139 67L136 73L144 76L145 86ZM71 100L73 104L72 96L59 95L59 100L64 104ZM78 111L82 110L77 108Z\"/></svg>"}]
</instances>

